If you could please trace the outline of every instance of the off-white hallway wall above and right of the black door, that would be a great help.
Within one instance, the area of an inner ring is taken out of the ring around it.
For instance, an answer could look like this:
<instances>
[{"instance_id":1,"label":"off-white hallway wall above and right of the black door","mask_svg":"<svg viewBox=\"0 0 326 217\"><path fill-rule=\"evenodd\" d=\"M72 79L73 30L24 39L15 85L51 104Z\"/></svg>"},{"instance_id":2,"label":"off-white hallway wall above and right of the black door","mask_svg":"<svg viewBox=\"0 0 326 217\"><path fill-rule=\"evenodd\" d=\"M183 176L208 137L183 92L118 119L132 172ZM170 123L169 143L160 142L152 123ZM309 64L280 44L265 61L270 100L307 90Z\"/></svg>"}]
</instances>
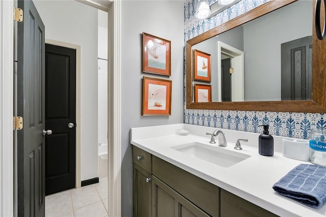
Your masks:
<instances>
[{"instance_id":1,"label":"off-white hallway wall above and right of the black door","mask_svg":"<svg viewBox=\"0 0 326 217\"><path fill-rule=\"evenodd\" d=\"M81 179L97 174L97 9L76 1L33 1L45 38L81 46Z\"/></svg>"}]
</instances>

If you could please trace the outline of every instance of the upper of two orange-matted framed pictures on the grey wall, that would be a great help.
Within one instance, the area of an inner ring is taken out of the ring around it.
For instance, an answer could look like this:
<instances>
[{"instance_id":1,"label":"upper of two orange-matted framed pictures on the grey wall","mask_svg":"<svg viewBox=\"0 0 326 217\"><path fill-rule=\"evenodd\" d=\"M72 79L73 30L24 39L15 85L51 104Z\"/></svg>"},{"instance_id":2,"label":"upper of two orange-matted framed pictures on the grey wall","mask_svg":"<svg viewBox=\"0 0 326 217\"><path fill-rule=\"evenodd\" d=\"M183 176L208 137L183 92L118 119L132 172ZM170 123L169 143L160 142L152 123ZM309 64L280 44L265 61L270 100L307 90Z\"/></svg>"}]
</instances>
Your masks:
<instances>
[{"instance_id":1,"label":"upper of two orange-matted framed pictures on the grey wall","mask_svg":"<svg viewBox=\"0 0 326 217\"><path fill-rule=\"evenodd\" d=\"M171 76L171 41L143 33L143 72Z\"/></svg>"}]
</instances>

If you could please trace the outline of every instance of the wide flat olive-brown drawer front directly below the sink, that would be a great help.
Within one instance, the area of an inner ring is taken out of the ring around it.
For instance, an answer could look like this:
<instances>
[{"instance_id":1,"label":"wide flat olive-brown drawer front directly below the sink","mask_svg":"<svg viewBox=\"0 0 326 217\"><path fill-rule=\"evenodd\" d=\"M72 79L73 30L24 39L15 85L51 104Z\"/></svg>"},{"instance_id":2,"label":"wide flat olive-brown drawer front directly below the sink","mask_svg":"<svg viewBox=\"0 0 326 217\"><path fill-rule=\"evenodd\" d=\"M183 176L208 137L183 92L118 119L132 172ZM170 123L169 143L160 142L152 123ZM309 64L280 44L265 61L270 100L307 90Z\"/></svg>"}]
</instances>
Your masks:
<instances>
[{"instance_id":1,"label":"wide flat olive-brown drawer front directly below the sink","mask_svg":"<svg viewBox=\"0 0 326 217\"><path fill-rule=\"evenodd\" d=\"M220 188L155 156L152 174L211 216L219 216Z\"/></svg>"}]
</instances>

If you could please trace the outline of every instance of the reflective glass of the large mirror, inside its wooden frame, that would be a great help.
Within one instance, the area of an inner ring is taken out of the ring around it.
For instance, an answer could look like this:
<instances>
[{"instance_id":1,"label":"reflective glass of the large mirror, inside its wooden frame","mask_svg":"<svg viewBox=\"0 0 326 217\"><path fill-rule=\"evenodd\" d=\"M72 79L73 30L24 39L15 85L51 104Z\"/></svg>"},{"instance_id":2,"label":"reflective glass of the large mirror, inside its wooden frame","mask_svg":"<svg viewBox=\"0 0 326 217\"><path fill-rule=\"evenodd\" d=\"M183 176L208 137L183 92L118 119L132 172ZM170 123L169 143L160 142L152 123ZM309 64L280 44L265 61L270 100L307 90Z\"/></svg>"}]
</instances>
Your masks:
<instances>
[{"instance_id":1,"label":"reflective glass of the large mirror, inside its wooden frame","mask_svg":"<svg viewBox=\"0 0 326 217\"><path fill-rule=\"evenodd\" d=\"M211 102L311 100L311 5L294 2L192 46L210 55L210 82L195 75L193 87L211 85Z\"/></svg>"}]
</instances>

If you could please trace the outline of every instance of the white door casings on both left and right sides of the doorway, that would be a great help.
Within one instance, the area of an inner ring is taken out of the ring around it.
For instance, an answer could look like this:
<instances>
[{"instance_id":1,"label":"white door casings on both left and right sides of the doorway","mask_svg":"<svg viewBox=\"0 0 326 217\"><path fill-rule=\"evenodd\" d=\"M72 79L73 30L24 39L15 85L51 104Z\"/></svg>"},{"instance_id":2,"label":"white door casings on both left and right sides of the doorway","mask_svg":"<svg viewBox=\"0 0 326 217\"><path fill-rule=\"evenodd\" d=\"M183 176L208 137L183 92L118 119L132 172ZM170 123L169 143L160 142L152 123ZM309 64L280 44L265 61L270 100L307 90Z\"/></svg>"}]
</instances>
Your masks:
<instances>
[{"instance_id":1,"label":"white door casings on both left and right sides of the doorway","mask_svg":"<svg viewBox=\"0 0 326 217\"><path fill-rule=\"evenodd\" d=\"M0 1L0 216L13 216L13 1ZM108 216L121 216L121 0L108 9Z\"/></svg>"}]
</instances>

